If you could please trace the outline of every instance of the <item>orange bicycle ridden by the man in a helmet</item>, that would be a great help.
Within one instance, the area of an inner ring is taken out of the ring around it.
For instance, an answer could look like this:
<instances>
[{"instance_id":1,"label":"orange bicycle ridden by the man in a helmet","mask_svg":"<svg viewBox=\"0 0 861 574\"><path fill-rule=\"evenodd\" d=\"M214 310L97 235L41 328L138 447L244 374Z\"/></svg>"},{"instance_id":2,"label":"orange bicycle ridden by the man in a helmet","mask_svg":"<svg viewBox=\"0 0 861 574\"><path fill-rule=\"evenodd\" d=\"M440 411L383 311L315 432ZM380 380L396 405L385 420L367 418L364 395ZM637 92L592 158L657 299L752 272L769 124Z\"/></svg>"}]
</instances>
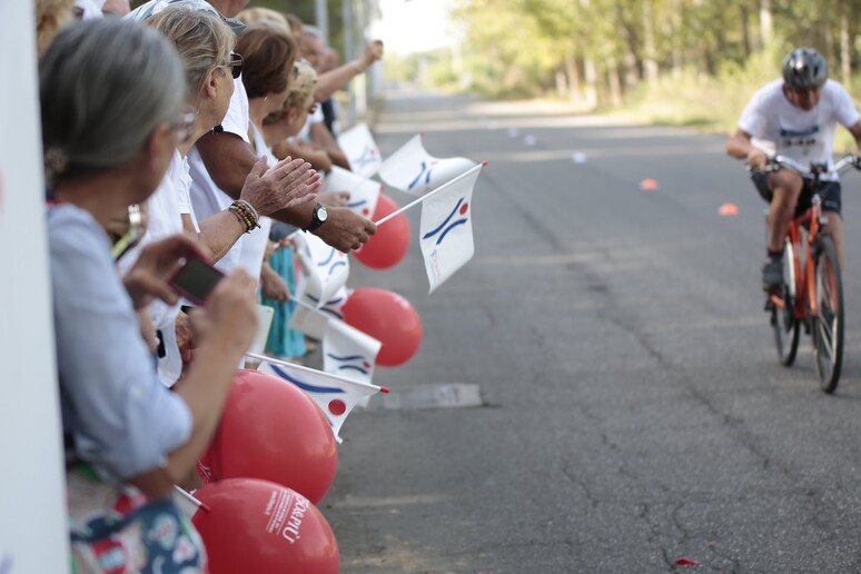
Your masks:
<instances>
[{"instance_id":1,"label":"orange bicycle ridden by the man in a helmet","mask_svg":"<svg viewBox=\"0 0 861 574\"><path fill-rule=\"evenodd\" d=\"M771 311L774 343L780 363L790 367L795 362L801 326L811 336L819 385L833 393L840 382L843 363L843 283L840 261L831 236L820 232L828 222L822 215L823 175L839 175L850 167L861 169L861 159L844 156L828 166L800 166L790 158L775 156L765 171L782 167L811 179L811 206L792 219L786 232L783 255L783 286L769 294L765 304Z\"/></svg>"}]
</instances>

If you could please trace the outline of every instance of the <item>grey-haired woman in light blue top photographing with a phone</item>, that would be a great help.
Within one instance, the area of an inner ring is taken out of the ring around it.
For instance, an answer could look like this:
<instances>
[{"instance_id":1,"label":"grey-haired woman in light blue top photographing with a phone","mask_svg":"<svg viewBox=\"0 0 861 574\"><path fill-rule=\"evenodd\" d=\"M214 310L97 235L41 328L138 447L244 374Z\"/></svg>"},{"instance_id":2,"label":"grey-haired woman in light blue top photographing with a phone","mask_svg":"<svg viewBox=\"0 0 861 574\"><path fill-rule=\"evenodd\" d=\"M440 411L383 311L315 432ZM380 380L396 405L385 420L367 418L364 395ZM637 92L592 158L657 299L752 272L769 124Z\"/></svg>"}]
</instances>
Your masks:
<instances>
[{"instance_id":1,"label":"grey-haired woman in light blue top photographing with a phone","mask_svg":"<svg viewBox=\"0 0 861 574\"><path fill-rule=\"evenodd\" d=\"M155 30L91 20L57 34L39 80L73 560L85 572L120 570L118 557L123 571L205 571L199 538L169 495L206 447L254 337L255 281L238 270L216 286L199 360L171 393L136 309L154 297L174 303L167 280L198 247L184 236L152 243L120 278L105 229L145 201L170 164L187 128L182 63Z\"/></svg>"}]
</instances>

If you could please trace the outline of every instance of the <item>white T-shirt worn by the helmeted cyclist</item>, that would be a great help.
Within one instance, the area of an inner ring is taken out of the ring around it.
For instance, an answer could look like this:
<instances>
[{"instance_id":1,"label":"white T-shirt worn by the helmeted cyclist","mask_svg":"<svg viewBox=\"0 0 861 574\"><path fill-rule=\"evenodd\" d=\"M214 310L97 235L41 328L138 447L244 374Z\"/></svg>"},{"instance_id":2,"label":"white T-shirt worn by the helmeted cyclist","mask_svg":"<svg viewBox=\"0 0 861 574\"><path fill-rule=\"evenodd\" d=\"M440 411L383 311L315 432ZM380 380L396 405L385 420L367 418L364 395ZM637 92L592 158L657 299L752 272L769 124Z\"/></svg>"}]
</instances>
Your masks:
<instances>
[{"instance_id":1,"label":"white T-shirt worn by the helmeted cyclist","mask_svg":"<svg viewBox=\"0 0 861 574\"><path fill-rule=\"evenodd\" d=\"M783 93L783 80L774 80L753 95L739 128L756 139L774 144L778 155L801 165L828 164L838 123L849 128L859 119L852 98L838 82L828 80L819 103L810 111L796 108Z\"/></svg>"}]
</instances>

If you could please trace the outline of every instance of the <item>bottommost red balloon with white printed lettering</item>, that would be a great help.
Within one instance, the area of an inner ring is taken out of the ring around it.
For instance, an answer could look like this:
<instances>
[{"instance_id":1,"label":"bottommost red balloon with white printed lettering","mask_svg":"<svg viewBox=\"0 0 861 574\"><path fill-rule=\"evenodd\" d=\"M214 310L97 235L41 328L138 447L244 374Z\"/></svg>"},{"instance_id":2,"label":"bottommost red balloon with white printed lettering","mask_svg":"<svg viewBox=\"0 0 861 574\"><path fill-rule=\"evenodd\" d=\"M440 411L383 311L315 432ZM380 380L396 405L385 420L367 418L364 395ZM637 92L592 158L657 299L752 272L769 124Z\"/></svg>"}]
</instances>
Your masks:
<instances>
[{"instance_id":1,"label":"bottommost red balloon with white printed lettering","mask_svg":"<svg viewBox=\"0 0 861 574\"><path fill-rule=\"evenodd\" d=\"M191 518L206 545L210 574L337 573L340 555L320 512L279 484L230 478L195 493L206 507Z\"/></svg>"}]
</instances>

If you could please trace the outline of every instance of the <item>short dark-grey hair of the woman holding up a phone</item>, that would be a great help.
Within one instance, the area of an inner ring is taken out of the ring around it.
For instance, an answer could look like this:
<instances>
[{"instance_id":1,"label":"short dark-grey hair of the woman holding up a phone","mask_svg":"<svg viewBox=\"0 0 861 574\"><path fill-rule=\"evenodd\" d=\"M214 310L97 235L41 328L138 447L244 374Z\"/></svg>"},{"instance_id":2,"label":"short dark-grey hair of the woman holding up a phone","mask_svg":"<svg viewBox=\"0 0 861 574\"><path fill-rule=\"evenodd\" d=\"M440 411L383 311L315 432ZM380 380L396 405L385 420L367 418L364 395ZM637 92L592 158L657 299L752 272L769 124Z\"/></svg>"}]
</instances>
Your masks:
<instances>
[{"instance_id":1,"label":"short dark-grey hair of the woman holding up a phone","mask_svg":"<svg viewBox=\"0 0 861 574\"><path fill-rule=\"evenodd\" d=\"M62 29L39 62L49 182L130 161L185 108L186 78L157 31L106 18Z\"/></svg>"}]
</instances>

